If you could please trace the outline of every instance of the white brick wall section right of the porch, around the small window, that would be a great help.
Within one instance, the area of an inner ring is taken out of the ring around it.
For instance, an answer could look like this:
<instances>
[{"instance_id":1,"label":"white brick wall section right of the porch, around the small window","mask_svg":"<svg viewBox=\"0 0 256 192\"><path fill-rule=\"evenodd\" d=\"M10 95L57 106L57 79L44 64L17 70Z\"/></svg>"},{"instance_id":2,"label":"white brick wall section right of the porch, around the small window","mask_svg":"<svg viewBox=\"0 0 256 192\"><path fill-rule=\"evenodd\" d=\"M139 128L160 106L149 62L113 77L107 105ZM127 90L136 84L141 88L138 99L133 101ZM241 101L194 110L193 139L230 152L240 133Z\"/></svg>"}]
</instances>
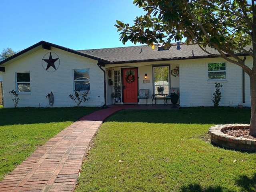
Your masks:
<instances>
[{"instance_id":1,"label":"white brick wall section right of the porch, around the small window","mask_svg":"<svg viewBox=\"0 0 256 192\"><path fill-rule=\"evenodd\" d=\"M220 58L203 60L186 60L180 64L180 105L213 106L212 99L215 91L215 81L207 80L208 62L225 62ZM248 58L250 64L250 58ZM217 81L223 85L221 88L220 106L250 106L250 82L245 74L245 103L242 102L242 68L227 62L227 80Z\"/></svg>"}]
</instances>

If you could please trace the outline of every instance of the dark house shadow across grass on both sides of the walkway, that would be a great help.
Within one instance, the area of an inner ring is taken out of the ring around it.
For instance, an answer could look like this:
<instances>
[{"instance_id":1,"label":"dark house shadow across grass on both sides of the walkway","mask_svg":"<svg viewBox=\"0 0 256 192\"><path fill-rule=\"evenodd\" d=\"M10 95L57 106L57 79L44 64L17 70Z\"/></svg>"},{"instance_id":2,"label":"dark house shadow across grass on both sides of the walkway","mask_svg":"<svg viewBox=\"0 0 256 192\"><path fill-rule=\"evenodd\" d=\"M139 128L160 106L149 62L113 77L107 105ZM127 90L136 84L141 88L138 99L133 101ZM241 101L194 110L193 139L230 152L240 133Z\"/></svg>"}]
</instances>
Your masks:
<instances>
[{"instance_id":1,"label":"dark house shadow across grass on both sides of the walkway","mask_svg":"<svg viewBox=\"0 0 256 192\"><path fill-rule=\"evenodd\" d=\"M97 107L3 108L0 109L0 126L76 121L100 109ZM250 109L192 107L180 110L122 110L107 118L106 121L183 124L250 123Z\"/></svg>"}]
</instances>

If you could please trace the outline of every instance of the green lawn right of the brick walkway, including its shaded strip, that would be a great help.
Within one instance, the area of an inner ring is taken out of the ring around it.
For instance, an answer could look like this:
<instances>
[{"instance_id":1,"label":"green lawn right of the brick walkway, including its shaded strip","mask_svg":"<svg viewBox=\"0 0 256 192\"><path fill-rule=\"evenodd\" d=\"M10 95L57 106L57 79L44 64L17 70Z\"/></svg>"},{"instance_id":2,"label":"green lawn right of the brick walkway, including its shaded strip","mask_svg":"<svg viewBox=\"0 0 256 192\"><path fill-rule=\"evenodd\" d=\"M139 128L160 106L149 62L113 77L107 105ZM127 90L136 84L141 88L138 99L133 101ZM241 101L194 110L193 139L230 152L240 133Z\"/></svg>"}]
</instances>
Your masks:
<instances>
[{"instance_id":1,"label":"green lawn right of the brick walkway, including its shaded strip","mask_svg":"<svg viewBox=\"0 0 256 192\"><path fill-rule=\"evenodd\" d=\"M214 124L250 123L250 109L124 110L104 122L76 192L254 192L256 155L209 142Z\"/></svg>"}]
</instances>

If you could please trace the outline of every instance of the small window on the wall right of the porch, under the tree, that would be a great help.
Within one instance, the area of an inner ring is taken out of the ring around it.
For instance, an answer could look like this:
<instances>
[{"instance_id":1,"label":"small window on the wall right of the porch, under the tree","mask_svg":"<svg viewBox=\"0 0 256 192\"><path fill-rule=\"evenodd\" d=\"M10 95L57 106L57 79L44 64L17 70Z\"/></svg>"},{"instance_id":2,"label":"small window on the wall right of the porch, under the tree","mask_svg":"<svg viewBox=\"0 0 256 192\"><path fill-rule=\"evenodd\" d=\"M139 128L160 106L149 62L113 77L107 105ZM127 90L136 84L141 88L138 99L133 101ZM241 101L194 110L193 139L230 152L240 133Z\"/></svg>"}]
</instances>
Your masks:
<instances>
[{"instance_id":1,"label":"small window on the wall right of the porch, under the tree","mask_svg":"<svg viewBox=\"0 0 256 192\"><path fill-rule=\"evenodd\" d=\"M226 62L208 63L208 80L226 80Z\"/></svg>"}]
</instances>

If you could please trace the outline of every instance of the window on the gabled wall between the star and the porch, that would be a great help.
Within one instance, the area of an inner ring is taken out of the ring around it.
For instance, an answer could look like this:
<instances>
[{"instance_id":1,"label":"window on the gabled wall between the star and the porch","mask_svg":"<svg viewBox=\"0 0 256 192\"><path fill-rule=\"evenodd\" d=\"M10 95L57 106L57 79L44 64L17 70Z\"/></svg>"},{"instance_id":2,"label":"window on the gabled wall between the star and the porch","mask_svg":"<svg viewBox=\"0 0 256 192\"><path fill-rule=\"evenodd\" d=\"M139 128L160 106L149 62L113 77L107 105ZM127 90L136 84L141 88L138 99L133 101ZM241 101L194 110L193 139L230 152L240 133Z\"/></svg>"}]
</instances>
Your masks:
<instances>
[{"instance_id":1,"label":"window on the gabled wall between the star and the porch","mask_svg":"<svg viewBox=\"0 0 256 192\"><path fill-rule=\"evenodd\" d=\"M90 90L90 70L89 69L74 70L74 90L75 91Z\"/></svg>"}]
</instances>

